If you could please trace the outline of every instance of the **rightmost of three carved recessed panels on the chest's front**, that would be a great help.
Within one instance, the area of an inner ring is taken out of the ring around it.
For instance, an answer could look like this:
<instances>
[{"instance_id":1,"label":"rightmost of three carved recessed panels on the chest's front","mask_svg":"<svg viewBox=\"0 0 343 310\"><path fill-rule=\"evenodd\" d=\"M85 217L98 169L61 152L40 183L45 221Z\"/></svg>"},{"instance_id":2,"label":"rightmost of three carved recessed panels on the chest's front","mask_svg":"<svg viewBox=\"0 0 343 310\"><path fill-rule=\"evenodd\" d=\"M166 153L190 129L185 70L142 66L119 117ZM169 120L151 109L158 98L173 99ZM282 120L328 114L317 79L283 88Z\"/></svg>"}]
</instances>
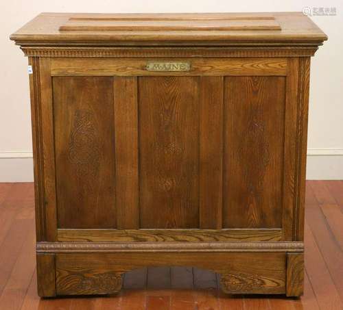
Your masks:
<instances>
[{"instance_id":1,"label":"rightmost of three carved recessed panels on the chest's front","mask_svg":"<svg viewBox=\"0 0 343 310\"><path fill-rule=\"evenodd\" d=\"M224 81L223 227L281 228L284 77Z\"/></svg>"}]
</instances>

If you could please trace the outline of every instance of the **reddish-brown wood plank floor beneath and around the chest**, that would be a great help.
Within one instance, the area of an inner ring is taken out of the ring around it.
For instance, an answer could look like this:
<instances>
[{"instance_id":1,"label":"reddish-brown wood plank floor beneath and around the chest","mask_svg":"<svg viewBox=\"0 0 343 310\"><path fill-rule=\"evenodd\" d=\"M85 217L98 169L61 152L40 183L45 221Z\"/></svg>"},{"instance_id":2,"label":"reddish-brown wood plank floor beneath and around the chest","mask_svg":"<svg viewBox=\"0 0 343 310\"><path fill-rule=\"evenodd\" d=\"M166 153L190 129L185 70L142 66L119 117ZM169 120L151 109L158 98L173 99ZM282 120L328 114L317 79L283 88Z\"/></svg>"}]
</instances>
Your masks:
<instances>
[{"instance_id":1,"label":"reddish-brown wood plank floor beneath and around the chest","mask_svg":"<svg viewBox=\"0 0 343 310\"><path fill-rule=\"evenodd\" d=\"M38 298L32 183L0 183L0 310L343 309L343 181L307 181L305 294L226 296L215 274L149 268L126 274L118 296Z\"/></svg>"}]
</instances>

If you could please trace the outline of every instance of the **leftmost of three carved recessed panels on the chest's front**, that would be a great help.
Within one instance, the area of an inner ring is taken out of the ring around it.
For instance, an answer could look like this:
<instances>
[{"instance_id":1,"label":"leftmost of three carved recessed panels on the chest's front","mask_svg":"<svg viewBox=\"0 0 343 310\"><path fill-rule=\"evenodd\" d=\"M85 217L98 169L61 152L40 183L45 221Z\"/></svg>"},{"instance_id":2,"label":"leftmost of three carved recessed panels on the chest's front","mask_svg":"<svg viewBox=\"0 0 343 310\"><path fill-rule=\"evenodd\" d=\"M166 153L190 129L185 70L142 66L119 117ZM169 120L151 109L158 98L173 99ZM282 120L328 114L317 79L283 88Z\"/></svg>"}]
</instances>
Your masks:
<instances>
[{"instance_id":1,"label":"leftmost of three carved recessed panels on the chest's front","mask_svg":"<svg viewBox=\"0 0 343 310\"><path fill-rule=\"evenodd\" d=\"M54 77L58 227L115 228L112 77Z\"/></svg>"}]
</instances>

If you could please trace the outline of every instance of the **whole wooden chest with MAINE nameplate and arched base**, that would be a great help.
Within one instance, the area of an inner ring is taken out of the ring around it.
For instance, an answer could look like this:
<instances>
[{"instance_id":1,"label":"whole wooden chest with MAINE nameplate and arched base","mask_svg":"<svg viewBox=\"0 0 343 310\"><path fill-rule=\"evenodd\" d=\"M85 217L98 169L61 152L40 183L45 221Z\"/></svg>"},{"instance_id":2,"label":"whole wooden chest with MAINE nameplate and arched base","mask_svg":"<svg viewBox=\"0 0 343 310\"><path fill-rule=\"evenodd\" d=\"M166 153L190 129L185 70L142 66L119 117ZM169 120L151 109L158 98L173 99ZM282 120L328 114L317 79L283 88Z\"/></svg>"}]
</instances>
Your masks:
<instances>
[{"instance_id":1,"label":"whole wooden chest with MAINE nameplate and arched base","mask_svg":"<svg viewBox=\"0 0 343 310\"><path fill-rule=\"evenodd\" d=\"M38 294L190 266L303 292L310 57L301 13L40 14L29 57Z\"/></svg>"}]
</instances>

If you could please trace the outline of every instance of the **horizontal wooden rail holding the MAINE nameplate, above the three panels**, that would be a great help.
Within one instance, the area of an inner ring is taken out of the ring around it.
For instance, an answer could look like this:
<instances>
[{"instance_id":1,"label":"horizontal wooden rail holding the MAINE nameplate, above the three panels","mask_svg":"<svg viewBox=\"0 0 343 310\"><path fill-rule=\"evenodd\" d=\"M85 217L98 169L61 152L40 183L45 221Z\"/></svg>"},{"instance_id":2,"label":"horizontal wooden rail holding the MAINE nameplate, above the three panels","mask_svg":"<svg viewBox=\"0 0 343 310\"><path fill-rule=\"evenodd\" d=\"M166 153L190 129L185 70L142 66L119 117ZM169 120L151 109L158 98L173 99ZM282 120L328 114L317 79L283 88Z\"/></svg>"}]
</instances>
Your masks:
<instances>
[{"instance_id":1,"label":"horizontal wooden rail holding the MAINE nameplate, above the three panels","mask_svg":"<svg viewBox=\"0 0 343 310\"><path fill-rule=\"evenodd\" d=\"M149 61L152 61L150 59ZM158 58L157 62L168 62ZM148 71L146 58L51 58L52 76L198 76L198 75L287 75L287 60L273 57L241 58L189 58L178 61L191 62L189 71Z\"/></svg>"}]
</instances>

